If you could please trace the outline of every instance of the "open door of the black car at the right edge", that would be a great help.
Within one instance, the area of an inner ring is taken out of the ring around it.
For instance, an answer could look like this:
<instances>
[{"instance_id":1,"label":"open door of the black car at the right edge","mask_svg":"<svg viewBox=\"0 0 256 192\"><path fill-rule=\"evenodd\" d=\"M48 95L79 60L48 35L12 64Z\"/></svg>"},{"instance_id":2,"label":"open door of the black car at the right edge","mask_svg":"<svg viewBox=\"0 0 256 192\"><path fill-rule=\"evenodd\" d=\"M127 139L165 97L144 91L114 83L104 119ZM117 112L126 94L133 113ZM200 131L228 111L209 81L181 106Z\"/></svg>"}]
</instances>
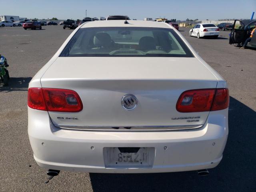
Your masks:
<instances>
[{"instance_id":1,"label":"open door of the black car at the right edge","mask_svg":"<svg viewBox=\"0 0 256 192\"><path fill-rule=\"evenodd\" d=\"M246 36L246 30L244 29L244 24L240 20L235 20L233 28L230 32L229 44L242 43Z\"/></svg>"}]
</instances>

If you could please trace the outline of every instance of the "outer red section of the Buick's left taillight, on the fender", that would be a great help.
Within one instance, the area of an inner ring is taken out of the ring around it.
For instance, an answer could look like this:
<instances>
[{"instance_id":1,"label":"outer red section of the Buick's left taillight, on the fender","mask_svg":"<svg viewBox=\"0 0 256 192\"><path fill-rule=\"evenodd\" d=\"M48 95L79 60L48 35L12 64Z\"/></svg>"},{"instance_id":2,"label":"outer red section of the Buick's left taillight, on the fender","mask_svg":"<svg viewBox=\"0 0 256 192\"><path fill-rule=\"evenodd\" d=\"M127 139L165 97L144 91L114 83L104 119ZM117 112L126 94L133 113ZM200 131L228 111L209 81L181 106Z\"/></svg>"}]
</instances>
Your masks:
<instances>
[{"instance_id":1,"label":"outer red section of the Buick's left taillight, on the fender","mask_svg":"<svg viewBox=\"0 0 256 192\"><path fill-rule=\"evenodd\" d=\"M28 106L32 109L47 110L41 88L28 89Z\"/></svg>"}]
</instances>

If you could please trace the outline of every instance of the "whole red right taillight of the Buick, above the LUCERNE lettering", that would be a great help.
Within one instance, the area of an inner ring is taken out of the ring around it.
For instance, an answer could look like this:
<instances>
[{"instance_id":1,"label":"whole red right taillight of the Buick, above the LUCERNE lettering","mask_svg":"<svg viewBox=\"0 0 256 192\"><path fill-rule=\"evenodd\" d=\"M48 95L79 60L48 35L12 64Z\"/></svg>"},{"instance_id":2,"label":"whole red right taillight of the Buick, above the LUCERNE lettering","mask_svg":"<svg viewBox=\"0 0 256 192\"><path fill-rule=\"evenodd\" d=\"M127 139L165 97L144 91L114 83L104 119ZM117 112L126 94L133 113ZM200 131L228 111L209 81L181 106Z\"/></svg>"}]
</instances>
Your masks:
<instances>
[{"instance_id":1,"label":"whole red right taillight of the Buick, above the LUCERNE lettering","mask_svg":"<svg viewBox=\"0 0 256 192\"><path fill-rule=\"evenodd\" d=\"M228 89L188 90L181 94L176 109L178 112L204 112L228 107Z\"/></svg>"}]
</instances>

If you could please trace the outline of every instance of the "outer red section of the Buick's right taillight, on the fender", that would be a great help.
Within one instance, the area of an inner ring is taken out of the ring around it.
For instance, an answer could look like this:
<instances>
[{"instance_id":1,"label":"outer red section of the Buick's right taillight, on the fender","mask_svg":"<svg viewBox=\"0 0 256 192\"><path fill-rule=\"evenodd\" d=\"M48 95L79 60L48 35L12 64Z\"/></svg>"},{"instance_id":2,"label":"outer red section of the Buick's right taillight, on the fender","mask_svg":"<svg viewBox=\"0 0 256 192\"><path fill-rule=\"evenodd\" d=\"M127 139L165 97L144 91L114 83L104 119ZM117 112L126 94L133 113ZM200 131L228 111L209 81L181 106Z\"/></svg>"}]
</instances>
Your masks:
<instances>
[{"instance_id":1,"label":"outer red section of the Buick's right taillight, on the fender","mask_svg":"<svg viewBox=\"0 0 256 192\"><path fill-rule=\"evenodd\" d=\"M216 90L211 111L226 109L229 106L228 89L220 88Z\"/></svg>"}]
</instances>

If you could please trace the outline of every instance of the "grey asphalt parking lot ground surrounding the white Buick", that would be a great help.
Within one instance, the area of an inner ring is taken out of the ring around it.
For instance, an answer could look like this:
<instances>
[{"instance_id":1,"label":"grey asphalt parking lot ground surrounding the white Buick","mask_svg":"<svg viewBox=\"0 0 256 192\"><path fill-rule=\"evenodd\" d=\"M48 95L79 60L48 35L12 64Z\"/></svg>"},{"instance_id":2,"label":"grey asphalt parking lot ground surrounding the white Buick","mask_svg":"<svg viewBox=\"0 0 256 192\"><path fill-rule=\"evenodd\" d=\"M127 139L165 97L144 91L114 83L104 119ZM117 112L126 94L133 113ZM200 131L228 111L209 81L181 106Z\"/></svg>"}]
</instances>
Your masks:
<instances>
[{"instance_id":1,"label":"grey asphalt parking lot ground surrounding the white Buick","mask_svg":"<svg viewBox=\"0 0 256 192\"><path fill-rule=\"evenodd\" d=\"M229 138L222 162L205 177L198 176L196 171L159 174L63 171L44 184L46 170L34 161L27 133L28 83L73 30L63 30L62 26L42 28L0 28L0 54L8 59L11 77L10 86L0 85L1 191L256 191L256 50L229 45L229 31L221 31L218 39L197 39L189 37L188 28L180 28L180 32L229 85Z\"/></svg>"}]
</instances>

